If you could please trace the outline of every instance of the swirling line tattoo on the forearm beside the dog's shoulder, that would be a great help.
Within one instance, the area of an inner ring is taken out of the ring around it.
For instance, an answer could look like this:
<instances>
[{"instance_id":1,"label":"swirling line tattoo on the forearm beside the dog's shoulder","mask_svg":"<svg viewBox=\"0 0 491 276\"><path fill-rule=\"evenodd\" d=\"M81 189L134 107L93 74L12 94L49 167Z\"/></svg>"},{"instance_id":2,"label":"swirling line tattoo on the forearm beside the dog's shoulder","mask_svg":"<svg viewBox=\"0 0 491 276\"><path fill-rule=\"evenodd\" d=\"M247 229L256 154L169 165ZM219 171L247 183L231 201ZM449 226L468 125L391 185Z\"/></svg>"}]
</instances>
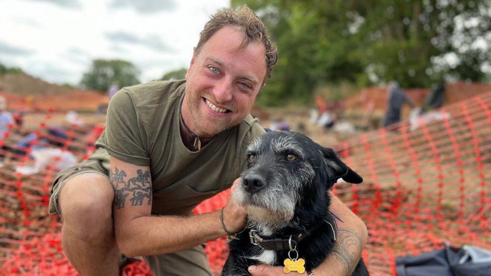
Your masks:
<instances>
[{"instance_id":1,"label":"swirling line tattoo on the forearm beside the dog's shoulder","mask_svg":"<svg viewBox=\"0 0 491 276\"><path fill-rule=\"evenodd\" d=\"M333 253L345 266L347 275L351 275L360 260L360 252L363 250L361 238L356 232L347 228L338 228L336 238Z\"/></svg>"}]
</instances>

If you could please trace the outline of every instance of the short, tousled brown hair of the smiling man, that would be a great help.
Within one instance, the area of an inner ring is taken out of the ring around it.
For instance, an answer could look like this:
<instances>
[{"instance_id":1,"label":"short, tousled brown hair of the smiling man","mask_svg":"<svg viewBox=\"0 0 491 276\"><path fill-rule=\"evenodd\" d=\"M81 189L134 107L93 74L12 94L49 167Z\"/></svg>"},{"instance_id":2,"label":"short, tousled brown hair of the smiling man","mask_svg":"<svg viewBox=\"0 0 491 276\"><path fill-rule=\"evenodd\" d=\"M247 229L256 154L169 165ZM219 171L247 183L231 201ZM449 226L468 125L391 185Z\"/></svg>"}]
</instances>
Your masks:
<instances>
[{"instance_id":1,"label":"short, tousled brown hair of the smiling man","mask_svg":"<svg viewBox=\"0 0 491 276\"><path fill-rule=\"evenodd\" d=\"M211 19L204 25L204 29L200 33L200 41L196 46L196 53L200 52L203 44L213 34L225 26L236 26L244 31L245 36L240 45L241 48L246 47L251 41L259 41L264 45L266 48L266 78L271 77L273 65L278 59L276 45L271 42L271 38L261 19L246 5L236 10L224 8L211 16Z\"/></svg>"}]
</instances>

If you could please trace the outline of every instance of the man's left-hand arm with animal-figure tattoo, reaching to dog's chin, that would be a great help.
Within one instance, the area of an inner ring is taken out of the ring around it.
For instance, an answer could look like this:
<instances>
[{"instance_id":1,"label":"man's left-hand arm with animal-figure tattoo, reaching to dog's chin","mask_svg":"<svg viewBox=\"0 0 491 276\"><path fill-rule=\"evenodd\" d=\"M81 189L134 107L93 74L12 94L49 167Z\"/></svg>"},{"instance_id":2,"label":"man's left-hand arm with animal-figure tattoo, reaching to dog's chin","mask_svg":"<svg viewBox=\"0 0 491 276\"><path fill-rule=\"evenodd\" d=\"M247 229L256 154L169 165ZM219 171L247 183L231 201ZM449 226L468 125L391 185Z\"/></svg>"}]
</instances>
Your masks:
<instances>
[{"instance_id":1,"label":"man's left-hand arm with animal-figure tattoo, reaching to dog's chin","mask_svg":"<svg viewBox=\"0 0 491 276\"><path fill-rule=\"evenodd\" d=\"M145 173L148 173L146 179L142 177ZM115 191L114 228L116 243L122 253L133 257L176 252L226 235L218 211L186 218L151 216L149 173L148 166L133 165L111 157L111 185ZM229 200L224 210L224 221L227 230L237 231L245 224L245 210L232 205Z\"/></svg>"}]
</instances>

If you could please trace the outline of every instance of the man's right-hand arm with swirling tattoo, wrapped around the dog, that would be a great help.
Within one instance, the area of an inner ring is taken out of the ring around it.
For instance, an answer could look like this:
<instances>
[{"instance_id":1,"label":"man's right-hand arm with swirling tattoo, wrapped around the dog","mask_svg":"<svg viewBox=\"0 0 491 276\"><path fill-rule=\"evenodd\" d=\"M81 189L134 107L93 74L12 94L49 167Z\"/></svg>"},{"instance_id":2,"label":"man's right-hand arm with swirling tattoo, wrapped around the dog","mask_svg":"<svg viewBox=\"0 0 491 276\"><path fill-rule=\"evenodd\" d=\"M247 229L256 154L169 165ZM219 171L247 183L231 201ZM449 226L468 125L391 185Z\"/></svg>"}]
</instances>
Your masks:
<instances>
[{"instance_id":1,"label":"man's right-hand arm with swirling tattoo, wrapped around the dog","mask_svg":"<svg viewBox=\"0 0 491 276\"><path fill-rule=\"evenodd\" d=\"M338 221L336 245L334 250L312 272L315 276L349 276L353 273L361 258L363 248L368 241L368 231L365 223L361 221L349 208L331 194L331 211L344 222ZM249 272L254 276L287 275L282 267L267 265L252 266ZM289 273L289 276L299 275ZM307 275L304 273L302 275Z\"/></svg>"}]
</instances>

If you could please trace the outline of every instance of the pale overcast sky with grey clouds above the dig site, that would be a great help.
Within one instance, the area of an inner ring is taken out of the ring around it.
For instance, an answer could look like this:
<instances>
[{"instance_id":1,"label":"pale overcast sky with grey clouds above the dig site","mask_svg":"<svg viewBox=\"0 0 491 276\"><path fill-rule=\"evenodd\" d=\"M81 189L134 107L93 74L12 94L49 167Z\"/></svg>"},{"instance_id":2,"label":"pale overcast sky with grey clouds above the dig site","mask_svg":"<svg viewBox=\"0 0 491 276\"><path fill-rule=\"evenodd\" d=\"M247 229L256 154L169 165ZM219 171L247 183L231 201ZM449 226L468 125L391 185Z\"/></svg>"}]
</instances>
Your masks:
<instances>
[{"instance_id":1,"label":"pale overcast sky with grey clouds above the dig site","mask_svg":"<svg viewBox=\"0 0 491 276\"><path fill-rule=\"evenodd\" d=\"M77 84L92 59L124 59L140 81L187 67L211 14L229 0L0 0L0 63Z\"/></svg>"}]
</instances>

